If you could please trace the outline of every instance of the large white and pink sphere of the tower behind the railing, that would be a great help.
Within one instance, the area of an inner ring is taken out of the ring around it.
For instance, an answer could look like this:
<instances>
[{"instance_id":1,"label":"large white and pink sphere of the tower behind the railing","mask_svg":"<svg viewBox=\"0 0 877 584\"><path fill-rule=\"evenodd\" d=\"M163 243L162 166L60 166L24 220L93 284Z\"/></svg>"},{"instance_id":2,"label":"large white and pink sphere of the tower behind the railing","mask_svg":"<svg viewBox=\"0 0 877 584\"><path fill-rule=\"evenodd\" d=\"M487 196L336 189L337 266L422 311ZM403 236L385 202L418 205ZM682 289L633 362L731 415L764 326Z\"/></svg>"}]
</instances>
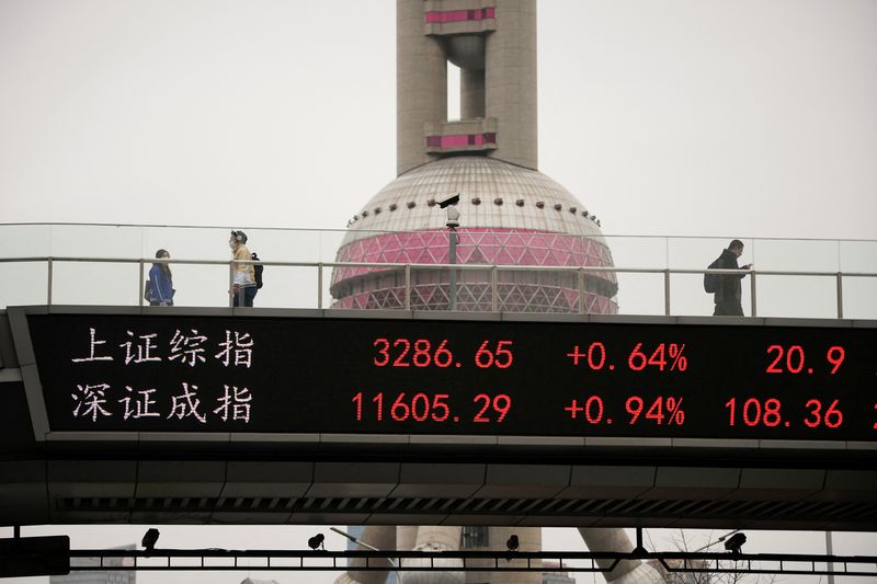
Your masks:
<instances>
[{"instance_id":1,"label":"large white and pink sphere of the tower behind the railing","mask_svg":"<svg viewBox=\"0 0 877 584\"><path fill-rule=\"evenodd\" d=\"M394 264L446 264L446 214L436 199L459 193L458 264L540 267L612 267L612 253L594 218L560 184L535 171L493 158L457 156L429 162L385 186L354 217L337 261ZM582 309L615 313L618 285L612 272L584 272ZM579 273L499 271L498 310L579 312ZM489 270L460 270L456 308L493 307ZM405 271L342 267L332 274L335 308L405 307ZM411 308L447 310L447 270L411 272Z\"/></svg>"}]
</instances>

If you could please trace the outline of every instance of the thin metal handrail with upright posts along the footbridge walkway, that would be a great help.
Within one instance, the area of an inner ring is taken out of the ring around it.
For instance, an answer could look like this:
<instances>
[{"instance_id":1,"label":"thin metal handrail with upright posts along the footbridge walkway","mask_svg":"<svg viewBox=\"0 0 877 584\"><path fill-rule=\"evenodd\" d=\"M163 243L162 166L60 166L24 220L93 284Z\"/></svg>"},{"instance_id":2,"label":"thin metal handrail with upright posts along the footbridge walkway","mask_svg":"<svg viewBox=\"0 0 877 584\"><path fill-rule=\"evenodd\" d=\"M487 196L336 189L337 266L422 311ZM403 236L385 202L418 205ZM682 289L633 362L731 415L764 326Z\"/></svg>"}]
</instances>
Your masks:
<instances>
[{"instance_id":1,"label":"thin metal handrail with upright posts along the footbridge walkway","mask_svg":"<svg viewBox=\"0 0 877 584\"><path fill-rule=\"evenodd\" d=\"M387 262L287 262L287 261L251 261L251 260L184 260L184 259L156 259L156 257L82 257L82 256L22 256L22 257L0 257L0 263L37 263L45 262L47 266L47 304L53 304L53 286L54 286L54 270L55 264L59 262L83 262L83 263L111 263L111 264L138 264L139 282L138 290L144 289L145 278L144 273L146 264L167 263L180 265L224 265L229 268L229 289L231 288L231 280L234 277L234 266L236 264L247 265L265 265L278 267L309 267L317 270L317 307L323 308L322 289L324 283L324 270L328 268L374 268L375 271L381 270L397 270L405 272L405 289L406 289L406 309L410 309L410 295L412 289L411 271L412 270L460 270L460 271L489 271L491 274L491 309L498 311L497 306L497 286L499 272L548 272L548 273L573 273L578 275L579 293L585 291L584 276L585 274L661 274L663 275L664 283L664 313L671 314L670 308L670 276L671 275L701 275L701 274L740 274L751 276L751 313L758 314L756 304L756 277L758 276L815 276L815 277L833 277L836 280L836 314L838 318L843 318L843 278L877 278L875 272L843 272L843 271L801 271L801 270L724 270L724 268L683 268L683 267L618 267L618 266L543 266L543 265L509 265L509 264L422 264L422 263L387 263ZM143 295L138 294L139 306L143 306ZM231 298L229 297L229 306L231 306ZM579 312L584 312L584 305L580 301Z\"/></svg>"}]
</instances>

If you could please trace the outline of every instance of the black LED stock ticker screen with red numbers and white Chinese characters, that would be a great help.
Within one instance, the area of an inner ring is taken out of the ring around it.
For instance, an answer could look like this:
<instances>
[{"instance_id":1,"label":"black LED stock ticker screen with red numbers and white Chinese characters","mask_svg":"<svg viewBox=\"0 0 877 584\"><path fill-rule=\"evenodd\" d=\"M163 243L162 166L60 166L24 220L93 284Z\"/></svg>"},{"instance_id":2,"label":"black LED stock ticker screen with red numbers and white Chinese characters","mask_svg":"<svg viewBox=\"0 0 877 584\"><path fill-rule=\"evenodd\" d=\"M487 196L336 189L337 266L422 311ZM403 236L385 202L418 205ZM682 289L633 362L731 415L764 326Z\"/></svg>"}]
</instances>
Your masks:
<instances>
[{"instance_id":1,"label":"black LED stock ticker screen with red numbers and white Chinese characters","mask_svg":"<svg viewBox=\"0 0 877 584\"><path fill-rule=\"evenodd\" d=\"M877 329L31 314L52 432L877 440Z\"/></svg>"}]
</instances>

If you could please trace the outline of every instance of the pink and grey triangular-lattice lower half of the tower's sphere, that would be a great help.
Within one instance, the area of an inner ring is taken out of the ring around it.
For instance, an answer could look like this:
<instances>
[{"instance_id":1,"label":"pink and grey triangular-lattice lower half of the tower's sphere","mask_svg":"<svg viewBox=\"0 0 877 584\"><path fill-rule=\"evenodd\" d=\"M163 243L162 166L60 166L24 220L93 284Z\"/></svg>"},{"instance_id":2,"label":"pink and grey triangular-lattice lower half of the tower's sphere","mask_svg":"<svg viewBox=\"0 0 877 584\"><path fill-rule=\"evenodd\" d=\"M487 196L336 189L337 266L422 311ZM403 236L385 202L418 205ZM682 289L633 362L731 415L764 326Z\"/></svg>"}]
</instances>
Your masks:
<instances>
[{"instance_id":1,"label":"pink and grey triangular-lattice lower half of the tower's sphere","mask_svg":"<svg viewBox=\"0 0 877 584\"><path fill-rule=\"evenodd\" d=\"M523 229L472 228L458 231L458 264L611 267L612 254L596 238ZM354 240L338 252L339 262L390 264L448 263L445 230L380 233ZM457 310L492 309L489 271L458 271ZM411 308L447 310L447 270L413 270ZM335 308L405 307L405 273L387 267L342 267L332 273ZM617 280L612 272L588 272L584 310L616 313ZM570 272L500 272L497 308L510 312L578 312L578 274Z\"/></svg>"}]
</instances>

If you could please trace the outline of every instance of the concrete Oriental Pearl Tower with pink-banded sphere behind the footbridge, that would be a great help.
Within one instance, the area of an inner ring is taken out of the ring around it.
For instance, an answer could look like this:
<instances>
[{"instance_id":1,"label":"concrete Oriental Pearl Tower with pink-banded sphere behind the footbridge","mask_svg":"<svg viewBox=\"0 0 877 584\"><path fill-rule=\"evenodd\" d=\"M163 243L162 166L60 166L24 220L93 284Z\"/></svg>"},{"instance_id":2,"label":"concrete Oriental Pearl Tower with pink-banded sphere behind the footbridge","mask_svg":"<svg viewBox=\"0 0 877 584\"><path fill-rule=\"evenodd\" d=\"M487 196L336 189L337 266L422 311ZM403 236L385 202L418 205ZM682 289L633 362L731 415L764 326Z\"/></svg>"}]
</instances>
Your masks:
<instances>
[{"instance_id":1,"label":"concrete Oriental Pearl Tower with pink-banded sphere behind the footbridge","mask_svg":"<svg viewBox=\"0 0 877 584\"><path fill-rule=\"evenodd\" d=\"M613 266L600 224L537 170L536 0L397 0L396 13L398 175L351 219L337 261L589 270L504 268L494 277L483 268L457 277L449 270L341 267L332 273L333 307L616 313L615 275L599 270ZM448 61L460 69L458 121L447 119ZM456 194L455 213L446 215L440 207ZM594 551L633 549L622 529L580 533ZM512 534L521 550L542 548L534 527L367 526L360 540L383 550L496 551ZM337 583L380 584L396 575L389 565L356 565ZM402 574L405 584L542 582L534 572ZM634 561L606 579L663 582Z\"/></svg>"}]
</instances>

